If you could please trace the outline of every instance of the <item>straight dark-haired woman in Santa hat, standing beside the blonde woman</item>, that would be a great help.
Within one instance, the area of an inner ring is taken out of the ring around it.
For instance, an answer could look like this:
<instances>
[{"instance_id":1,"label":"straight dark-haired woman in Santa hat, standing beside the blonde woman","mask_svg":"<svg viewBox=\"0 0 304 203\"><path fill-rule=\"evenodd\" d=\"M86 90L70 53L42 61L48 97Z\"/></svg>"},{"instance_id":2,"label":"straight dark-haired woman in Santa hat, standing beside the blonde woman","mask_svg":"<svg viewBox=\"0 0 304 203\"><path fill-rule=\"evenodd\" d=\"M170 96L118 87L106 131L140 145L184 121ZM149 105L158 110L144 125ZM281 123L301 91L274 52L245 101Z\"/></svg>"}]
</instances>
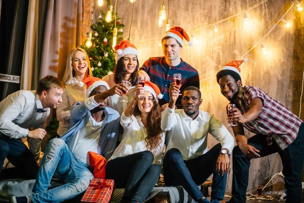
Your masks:
<instances>
[{"instance_id":1,"label":"straight dark-haired woman in Santa hat, standing beside the blonde woman","mask_svg":"<svg viewBox=\"0 0 304 203\"><path fill-rule=\"evenodd\" d=\"M127 108L130 101L132 101L137 85L137 71L138 71L138 52L136 47L128 40L123 40L119 45L115 46L116 50L116 67L114 73L104 76L102 80L106 81L110 88L122 81L129 81L129 89L126 94L127 102L122 101L123 96L115 94L108 97L108 106L115 109L121 115Z\"/></svg>"}]
</instances>

